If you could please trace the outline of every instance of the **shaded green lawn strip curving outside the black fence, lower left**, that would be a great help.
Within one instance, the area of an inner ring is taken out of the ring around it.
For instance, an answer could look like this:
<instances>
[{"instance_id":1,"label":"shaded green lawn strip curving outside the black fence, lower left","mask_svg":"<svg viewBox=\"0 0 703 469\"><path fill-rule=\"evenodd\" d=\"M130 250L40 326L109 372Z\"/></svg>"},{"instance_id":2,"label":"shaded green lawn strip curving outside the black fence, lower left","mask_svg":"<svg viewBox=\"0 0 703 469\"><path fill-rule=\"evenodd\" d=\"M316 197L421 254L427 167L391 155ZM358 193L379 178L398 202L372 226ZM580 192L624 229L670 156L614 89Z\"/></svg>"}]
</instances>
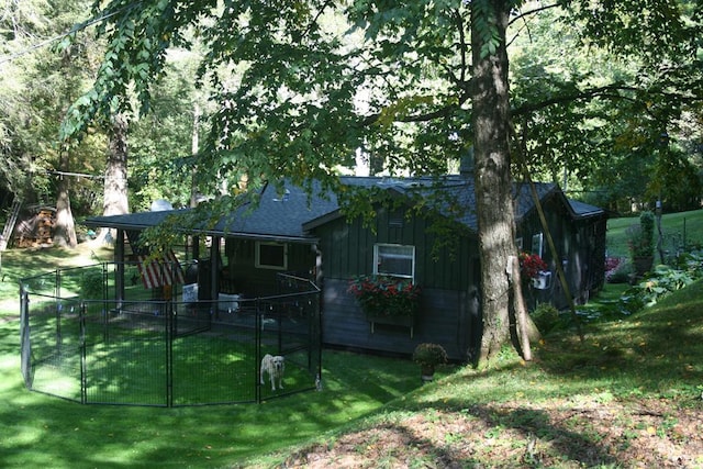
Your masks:
<instances>
[{"instance_id":1,"label":"shaded green lawn strip curving outside the black fence, lower left","mask_svg":"<svg viewBox=\"0 0 703 469\"><path fill-rule=\"evenodd\" d=\"M326 350L323 367L322 392L263 404L80 405L24 388L19 323L0 315L0 467L230 466L344 427L421 386L404 359Z\"/></svg>"}]
</instances>

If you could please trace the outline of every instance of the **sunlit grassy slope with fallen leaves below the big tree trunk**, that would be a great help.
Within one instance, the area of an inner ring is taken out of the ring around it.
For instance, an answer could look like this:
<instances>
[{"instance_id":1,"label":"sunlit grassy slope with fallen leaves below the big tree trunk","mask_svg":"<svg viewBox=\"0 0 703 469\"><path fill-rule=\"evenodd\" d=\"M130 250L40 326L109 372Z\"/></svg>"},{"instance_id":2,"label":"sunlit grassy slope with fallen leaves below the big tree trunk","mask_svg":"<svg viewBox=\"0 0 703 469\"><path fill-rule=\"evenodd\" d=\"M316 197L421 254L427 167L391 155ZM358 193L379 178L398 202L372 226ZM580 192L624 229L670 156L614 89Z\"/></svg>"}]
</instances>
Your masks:
<instances>
[{"instance_id":1,"label":"sunlit grassy slope with fallen leaves below the big tree trunk","mask_svg":"<svg viewBox=\"0 0 703 469\"><path fill-rule=\"evenodd\" d=\"M703 468L703 281L584 332L547 336L529 364L506 351L486 372L460 368L354 432L246 466Z\"/></svg>"}]
</instances>

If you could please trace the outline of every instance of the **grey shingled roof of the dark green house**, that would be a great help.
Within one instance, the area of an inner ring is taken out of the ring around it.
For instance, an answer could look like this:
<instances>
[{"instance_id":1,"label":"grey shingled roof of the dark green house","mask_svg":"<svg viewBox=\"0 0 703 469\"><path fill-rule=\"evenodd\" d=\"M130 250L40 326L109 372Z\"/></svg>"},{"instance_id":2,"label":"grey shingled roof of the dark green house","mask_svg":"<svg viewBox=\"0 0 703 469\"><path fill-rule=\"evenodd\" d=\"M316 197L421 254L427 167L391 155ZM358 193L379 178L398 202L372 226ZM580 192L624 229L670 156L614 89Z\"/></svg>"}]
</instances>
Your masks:
<instances>
[{"instance_id":1,"label":"grey shingled roof of the dark green house","mask_svg":"<svg viewBox=\"0 0 703 469\"><path fill-rule=\"evenodd\" d=\"M383 178L383 177L343 177L342 182L348 186L371 188L377 187L394 191L400 196L420 196L424 198L442 193L442 200L451 200L453 203L465 208L459 215L448 210L448 202L437 202L437 210L456 217L458 223L477 232L478 221L476 216L476 197L471 178L461 176L447 176L437 178ZM236 212L220 217L217 224L203 230L205 235L243 237L271 241L313 242L314 236L310 230L326 223L330 220L344 216L339 203L334 193L323 191L321 185L312 183L312 192L308 193L303 188L292 183L281 185L277 189L274 185L267 185L258 193L258 204L244 203ZM563 198L557 185L536 183L540 200L549 196ZM522 219L535 209L529 188L525 185L515 186L515 214ZM565 201L574 217L585 217L603 213L599 208L582 202ZM87 219L85 224L90 227L110 227L122 230L144 230L157 225L171 214L185 213L192 209L166 210L158 212L142 212L125 215L93 216ZM192 232L192 227L183 227L185 232Z\"/></svg>"}]
</instances>

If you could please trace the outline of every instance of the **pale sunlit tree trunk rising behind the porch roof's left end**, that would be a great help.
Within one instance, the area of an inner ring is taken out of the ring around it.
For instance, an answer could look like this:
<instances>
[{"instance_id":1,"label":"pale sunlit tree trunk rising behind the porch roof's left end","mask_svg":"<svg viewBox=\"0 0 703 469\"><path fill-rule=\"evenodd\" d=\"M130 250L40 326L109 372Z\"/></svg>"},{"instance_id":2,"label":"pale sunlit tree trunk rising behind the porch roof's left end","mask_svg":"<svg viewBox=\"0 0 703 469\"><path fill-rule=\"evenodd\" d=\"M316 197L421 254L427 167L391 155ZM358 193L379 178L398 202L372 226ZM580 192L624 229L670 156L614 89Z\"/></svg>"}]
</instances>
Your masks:
<instances>
[{"instance_id":1,"label":"pale sunlit tree trunk rising behind the porch roof's left end","mask_svg":"<svg viewBox=\"0 0 703 469\"><path fill-rule=\"evenodd\" d=\"M127 202L127 121L122 114L115 115L112 120L102 209L103 215L130 213ZM110 231L103 230L99 238L102 242L114 239L114 235L108 237L109 235Z\"/></svg>"}]
</instances>

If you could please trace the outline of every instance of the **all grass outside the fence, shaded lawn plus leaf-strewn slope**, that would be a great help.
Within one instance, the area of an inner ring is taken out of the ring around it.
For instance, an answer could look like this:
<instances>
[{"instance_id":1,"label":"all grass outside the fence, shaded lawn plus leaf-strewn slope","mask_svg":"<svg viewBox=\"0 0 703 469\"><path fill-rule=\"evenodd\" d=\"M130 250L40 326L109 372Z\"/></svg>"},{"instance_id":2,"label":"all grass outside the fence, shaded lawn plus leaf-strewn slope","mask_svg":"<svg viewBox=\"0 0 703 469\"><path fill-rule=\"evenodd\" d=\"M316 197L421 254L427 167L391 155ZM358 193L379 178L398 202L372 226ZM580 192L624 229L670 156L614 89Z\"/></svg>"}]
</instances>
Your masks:
<instances>
[{"instance_id":1,"label":"all grass outside the fence, shaded lawn plus leaf-strewn slope","mask_svg":"<svg viewBox=\"0 0 703 469\"><path fill-rule=\"evenodd\" d=\"M16 283L5 284L26 272L22 259L3 256L0 282L2 467L276 467L308 455L327 466L662 467L685 457L703 467L701 281L652 309L587 324L582 342L553 333L529 364L505 350L484 372L447 367L421 386L409 360L325 350L322 392L156 409L24 389ZM612 301L616 288L601 298Z\"/></svg>"}]
</instances>

